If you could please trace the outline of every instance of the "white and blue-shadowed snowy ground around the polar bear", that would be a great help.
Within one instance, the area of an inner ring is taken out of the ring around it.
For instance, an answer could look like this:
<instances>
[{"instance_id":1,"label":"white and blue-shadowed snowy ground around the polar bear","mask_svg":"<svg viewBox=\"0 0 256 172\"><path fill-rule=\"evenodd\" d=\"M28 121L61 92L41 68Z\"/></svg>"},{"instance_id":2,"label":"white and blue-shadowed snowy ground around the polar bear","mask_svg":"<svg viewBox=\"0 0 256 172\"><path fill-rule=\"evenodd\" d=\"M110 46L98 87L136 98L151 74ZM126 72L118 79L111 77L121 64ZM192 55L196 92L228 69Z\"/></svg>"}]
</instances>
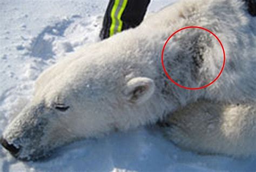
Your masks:
<instances>
[{"instance_id":1,"label":"white and blue-shadowed snowy ground around the polar bear","mask_svg":"<svg viewBox=\"0 0 256 172\"><path fill-rule=\"evenodd\" d=\"M154 0L149 12L177 0ZM107 0L0 0L0 135L28 102L37 76L76 48L99 41ZM0 147L2 171L256 171L256 157L185 152L157 127L113 133L59 148L51 159L22 162Z\"/></svg>"}]
</instances>

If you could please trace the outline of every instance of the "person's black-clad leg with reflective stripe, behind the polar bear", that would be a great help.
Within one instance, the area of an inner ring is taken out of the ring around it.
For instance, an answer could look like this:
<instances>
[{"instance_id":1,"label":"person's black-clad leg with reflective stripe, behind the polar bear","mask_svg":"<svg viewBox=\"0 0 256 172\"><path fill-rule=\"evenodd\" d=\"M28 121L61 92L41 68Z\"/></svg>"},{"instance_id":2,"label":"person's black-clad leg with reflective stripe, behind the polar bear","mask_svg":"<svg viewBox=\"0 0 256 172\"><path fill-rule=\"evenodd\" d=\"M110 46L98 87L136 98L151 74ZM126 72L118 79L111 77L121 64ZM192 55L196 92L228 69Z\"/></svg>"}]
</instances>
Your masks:
<instances>
[{"instance_id":1,"label":"person's black-clad leg with reflective stripe, behind the polar bear","mask_svg":"<svg viewBox=\"0 0 256 172\"><path fill-rule=\"evenodd\" d=\"M150 0L110 0L105 12L100 39L111 37L138 26L146 13Z\"/></svg>"}]
</instances>

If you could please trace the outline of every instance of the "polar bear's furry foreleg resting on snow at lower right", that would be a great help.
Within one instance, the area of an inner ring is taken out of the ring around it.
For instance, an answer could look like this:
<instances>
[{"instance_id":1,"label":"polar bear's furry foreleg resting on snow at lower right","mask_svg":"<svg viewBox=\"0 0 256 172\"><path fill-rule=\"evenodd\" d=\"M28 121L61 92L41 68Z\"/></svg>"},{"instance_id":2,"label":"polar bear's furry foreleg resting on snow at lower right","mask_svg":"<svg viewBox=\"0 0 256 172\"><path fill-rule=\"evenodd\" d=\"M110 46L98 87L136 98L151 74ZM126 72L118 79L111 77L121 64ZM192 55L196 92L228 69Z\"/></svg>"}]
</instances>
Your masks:
<instances>
[{"instance_id":1,"label":"polar bear's furry foreleg resting on snow at lower right","mask_svg":"<svg viewBox=\"0 0 256 172\"><path fill-rule=\"evenodd\" d=\"M235 157L256 151L256 105L191 103L167 119L165 133L179 147L201 154Z\"/></svg>"}]
</instances>

